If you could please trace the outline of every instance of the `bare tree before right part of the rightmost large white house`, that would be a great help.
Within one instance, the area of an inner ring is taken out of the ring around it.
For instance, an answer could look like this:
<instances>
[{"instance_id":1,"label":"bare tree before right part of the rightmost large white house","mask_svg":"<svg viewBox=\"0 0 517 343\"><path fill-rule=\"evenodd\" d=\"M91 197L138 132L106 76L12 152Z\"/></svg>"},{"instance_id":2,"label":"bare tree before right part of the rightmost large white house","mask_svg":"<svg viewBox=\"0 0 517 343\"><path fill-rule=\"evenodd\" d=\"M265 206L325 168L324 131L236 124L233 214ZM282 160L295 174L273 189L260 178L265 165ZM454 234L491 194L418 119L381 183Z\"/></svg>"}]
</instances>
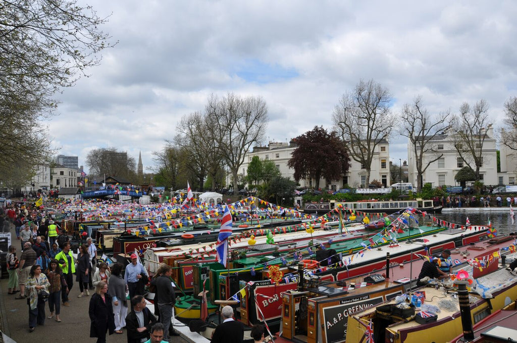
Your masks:
<instances>
[{"instance_id":1,"label":"bare tree before right part of the rightmost large white house","mask_svg":"<svg viewBox=\"0 0 517 343\"><path fill-rule=\"evenodd\" d=\"M474 106L464 102L460 113L452 120L452 141L454 148L463 162L476 173L479 180L479 168L483 165L483 144L492 126L488 115L489 105L481 99Z\"/></svg>"}]
</instances>

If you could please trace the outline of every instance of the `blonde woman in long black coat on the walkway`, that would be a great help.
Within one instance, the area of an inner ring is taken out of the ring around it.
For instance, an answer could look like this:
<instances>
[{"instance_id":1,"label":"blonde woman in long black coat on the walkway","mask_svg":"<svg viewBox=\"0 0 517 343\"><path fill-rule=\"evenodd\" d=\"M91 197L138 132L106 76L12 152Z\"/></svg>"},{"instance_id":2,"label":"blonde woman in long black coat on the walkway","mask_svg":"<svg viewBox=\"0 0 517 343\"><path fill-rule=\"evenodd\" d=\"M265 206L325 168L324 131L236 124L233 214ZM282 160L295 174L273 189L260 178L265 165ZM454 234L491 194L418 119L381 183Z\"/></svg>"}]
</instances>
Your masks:
<instances>
[{"instance_id":1,"label":"blonde woman in long black coat on the walkway","mask_svg":"<svg viewBox=\"0 0 517 343\"><path fill-rule=\"evenodd\" d=\"M112 335L115 330L112 299L108 294L107 283L101 281L95 287L95 294L90 298L88 315L90 317L90 337L97 337L97 343L105 343L106 333Z\"/></svg>"}]
</instances>

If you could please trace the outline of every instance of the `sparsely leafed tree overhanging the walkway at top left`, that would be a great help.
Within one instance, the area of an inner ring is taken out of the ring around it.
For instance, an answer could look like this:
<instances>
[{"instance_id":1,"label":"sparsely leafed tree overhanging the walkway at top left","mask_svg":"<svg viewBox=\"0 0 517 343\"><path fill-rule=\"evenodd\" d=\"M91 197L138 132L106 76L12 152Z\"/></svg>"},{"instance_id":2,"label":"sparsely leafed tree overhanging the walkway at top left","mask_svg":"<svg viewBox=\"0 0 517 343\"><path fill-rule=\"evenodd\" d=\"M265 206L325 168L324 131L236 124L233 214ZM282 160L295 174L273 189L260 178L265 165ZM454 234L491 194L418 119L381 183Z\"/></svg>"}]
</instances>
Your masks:
<instances>
[{"instance_id":1,"label":"sparsely leafed tree overhanging the walkway at top left","mask_svg":"<svg viewBox=\"0 0 517 343\"><path fill-rule=\"evenodd\" d=\"M56 107L54 93L72 86L113 46L100 30L106 22L73 0L0 4L0 180L14 160L28 166L50 161L54 151L42 120Z\"/></svg>"}]
</instances>

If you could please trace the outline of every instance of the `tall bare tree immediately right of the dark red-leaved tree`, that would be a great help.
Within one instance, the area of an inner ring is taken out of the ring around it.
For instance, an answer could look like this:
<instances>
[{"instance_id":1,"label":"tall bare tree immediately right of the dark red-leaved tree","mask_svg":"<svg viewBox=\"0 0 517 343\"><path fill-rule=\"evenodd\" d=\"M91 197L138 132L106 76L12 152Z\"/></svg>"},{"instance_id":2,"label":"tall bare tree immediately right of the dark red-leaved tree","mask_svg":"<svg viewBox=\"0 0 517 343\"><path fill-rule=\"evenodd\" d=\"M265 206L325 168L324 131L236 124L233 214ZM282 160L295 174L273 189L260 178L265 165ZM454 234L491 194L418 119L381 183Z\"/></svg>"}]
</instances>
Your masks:
<instances>
[{"instance_id":1,"label":"tall bare tree immediately right of the dark red-leaved tree","mask_svg":"<svg viewBox=\"0 0 517 343\"><path fill-rule=\"evenodd\" d=\"M346 92L334 108L332 121L350 157L366 169L366 184L375 148L387 140L396 122L391 113L391 95L373 79L359 81L352 92Z\"/></svg>"}]
</instances>

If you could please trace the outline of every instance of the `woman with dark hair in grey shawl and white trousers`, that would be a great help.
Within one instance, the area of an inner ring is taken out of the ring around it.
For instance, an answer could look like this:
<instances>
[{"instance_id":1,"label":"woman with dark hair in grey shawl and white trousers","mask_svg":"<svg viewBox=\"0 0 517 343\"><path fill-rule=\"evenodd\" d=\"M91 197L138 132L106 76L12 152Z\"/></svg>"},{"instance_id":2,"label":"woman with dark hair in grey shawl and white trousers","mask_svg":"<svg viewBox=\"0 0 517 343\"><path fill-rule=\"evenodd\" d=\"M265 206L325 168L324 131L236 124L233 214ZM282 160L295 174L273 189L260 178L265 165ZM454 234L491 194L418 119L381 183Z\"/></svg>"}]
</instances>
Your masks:
<instances>
[{"instance_id":1,"label":"woman with dark hair in grey shawl and white trousers","mask_svg":"<svg viewBox=\"0 0 517 343\"><path fill-rule=\"evenodd\" d=\"M126 315L128 312L128 304L126 301L126 292L128 285L122 277L122 264L115 263L111 267L111 276L108 283L108 293L113 297L113 315L115 323L115 333L121 334L122 328L126 326Z\"/></svg>"}]
</instances>

